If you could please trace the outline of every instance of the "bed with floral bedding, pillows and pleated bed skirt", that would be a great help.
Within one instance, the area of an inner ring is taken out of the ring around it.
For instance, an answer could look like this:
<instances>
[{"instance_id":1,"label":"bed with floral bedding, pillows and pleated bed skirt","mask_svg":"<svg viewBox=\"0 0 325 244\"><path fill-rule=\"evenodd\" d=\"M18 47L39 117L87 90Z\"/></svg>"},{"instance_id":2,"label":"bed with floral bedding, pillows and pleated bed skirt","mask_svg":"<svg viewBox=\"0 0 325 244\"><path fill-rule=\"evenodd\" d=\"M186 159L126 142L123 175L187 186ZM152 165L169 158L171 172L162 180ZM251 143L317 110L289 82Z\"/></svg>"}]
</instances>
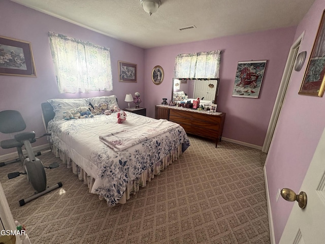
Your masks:
<instances>
[{"instance_id":1,"label":"bed with floral bedding, pillows and pleated bed skirt","mask_svg":"<svg viewBox=\"0 0 325 244\"><path fill-rule=\"evenodd\" d=\"M43 121L51 148L68 168L109 206L125 203L139 187L145 187L190 145L184 129L165 119L153 119L124 111L92 118L64 119L69 107L118 106L116 96L89 99L51 99L42 103Z\"/></svg>"}]
</instances>

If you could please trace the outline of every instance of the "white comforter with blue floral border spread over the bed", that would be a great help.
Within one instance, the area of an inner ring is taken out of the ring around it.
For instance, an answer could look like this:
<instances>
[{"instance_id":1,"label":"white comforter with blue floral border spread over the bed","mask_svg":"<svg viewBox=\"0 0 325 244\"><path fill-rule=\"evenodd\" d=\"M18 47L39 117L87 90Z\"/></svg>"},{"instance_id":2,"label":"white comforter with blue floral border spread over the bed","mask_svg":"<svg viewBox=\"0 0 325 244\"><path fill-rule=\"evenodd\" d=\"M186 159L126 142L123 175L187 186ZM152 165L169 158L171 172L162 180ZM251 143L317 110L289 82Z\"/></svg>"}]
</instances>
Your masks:
<instances>
[{"instance_id":1,"label":"white comforter with blue floral border spread over the bed","mask_svg":"<svg viewBox=\"0 0 325 244\"><path fill-rule=\"evenodd\" d=\"M139 130L133 128L139 125L150 127L157 123L156 119L150 117L125 113L127 118L123 124L117 123L115 113L93 118L51 120L48 124L48 132L52 134L51 143L95 179L91 192L103 196L110 206L121 199L129 180L139 178L144 170L160 163L178 145L182 144L182 151L189 146L184 129L176 126L124 150L113 150L99 137L129 131L132 134L130 138L134 138Z\"/></svg>"}]
</instances>

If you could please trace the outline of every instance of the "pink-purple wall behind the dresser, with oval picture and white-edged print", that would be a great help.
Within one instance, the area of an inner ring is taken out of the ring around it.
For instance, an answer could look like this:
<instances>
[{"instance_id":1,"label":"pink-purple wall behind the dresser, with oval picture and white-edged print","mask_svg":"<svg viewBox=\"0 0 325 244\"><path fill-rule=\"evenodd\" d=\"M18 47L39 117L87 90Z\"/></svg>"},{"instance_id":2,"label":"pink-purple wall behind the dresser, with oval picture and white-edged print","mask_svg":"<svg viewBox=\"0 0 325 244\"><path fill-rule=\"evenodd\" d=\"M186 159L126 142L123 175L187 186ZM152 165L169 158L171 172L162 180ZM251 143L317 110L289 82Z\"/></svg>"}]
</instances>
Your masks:
<instances>
[{"instance_id":1,"label":"pink-purple wall behind the dresser, with oval picture and white-edged print","mask_svg":"<svg viewBox=\"0 0 325 244\"><path fill-rule=\"evenodd\" d=\"M225 112L223 137L263 146L274 102L296 27L247 35L164 46L145 50L145 100L147 113L154 117L154 105L172 97L175 57L179 53L222 50L218 111ZM232 97L237 64L267 60L258 99ZM165 71L164 81L155 85L150 78L156 65Z\"/></svg>"}]
</instances>

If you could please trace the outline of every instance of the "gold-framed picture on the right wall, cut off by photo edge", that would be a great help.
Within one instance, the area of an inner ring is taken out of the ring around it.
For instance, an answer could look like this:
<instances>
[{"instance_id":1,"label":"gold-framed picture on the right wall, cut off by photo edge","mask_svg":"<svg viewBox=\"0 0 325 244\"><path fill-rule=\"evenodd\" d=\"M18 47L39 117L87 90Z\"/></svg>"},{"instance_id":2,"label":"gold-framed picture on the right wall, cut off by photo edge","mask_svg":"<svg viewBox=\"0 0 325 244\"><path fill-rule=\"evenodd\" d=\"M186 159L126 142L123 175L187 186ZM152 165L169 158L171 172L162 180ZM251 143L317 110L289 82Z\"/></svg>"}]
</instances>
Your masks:
<instances>
[{"instance_id":1,"label":"gold-framed picture on the right wall, cut off by photo edge","mask_svg":"<svg viewBox=\"0 0 325 244\"><path fill-rule=\"evenodd\" d=\"M322 97L325 89L325 11L322 14L317 36L311 51L299 93Z\"/></svg>"}]
</instances>

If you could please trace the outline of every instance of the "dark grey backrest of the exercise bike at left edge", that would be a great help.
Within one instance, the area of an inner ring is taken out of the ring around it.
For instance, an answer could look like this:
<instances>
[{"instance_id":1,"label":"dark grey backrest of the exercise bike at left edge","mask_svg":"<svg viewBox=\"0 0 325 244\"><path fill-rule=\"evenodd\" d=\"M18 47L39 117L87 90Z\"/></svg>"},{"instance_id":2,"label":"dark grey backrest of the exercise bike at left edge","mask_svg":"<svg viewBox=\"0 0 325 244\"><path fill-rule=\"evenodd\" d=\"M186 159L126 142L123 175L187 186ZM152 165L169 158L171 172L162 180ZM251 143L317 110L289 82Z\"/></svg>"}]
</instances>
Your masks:
<instances>
[{"instance_id":1,"label":"dark grey backrest of the exercise bike at left edge","mask_svg":"<svg viewBox=\"0 0 325 244\"><path fill-rule=\"evenodd\" d=\"M0 132L15 133L26 129L26 124L20 112L4 110L0 112Z\"/></svg>"}]
</instances>

